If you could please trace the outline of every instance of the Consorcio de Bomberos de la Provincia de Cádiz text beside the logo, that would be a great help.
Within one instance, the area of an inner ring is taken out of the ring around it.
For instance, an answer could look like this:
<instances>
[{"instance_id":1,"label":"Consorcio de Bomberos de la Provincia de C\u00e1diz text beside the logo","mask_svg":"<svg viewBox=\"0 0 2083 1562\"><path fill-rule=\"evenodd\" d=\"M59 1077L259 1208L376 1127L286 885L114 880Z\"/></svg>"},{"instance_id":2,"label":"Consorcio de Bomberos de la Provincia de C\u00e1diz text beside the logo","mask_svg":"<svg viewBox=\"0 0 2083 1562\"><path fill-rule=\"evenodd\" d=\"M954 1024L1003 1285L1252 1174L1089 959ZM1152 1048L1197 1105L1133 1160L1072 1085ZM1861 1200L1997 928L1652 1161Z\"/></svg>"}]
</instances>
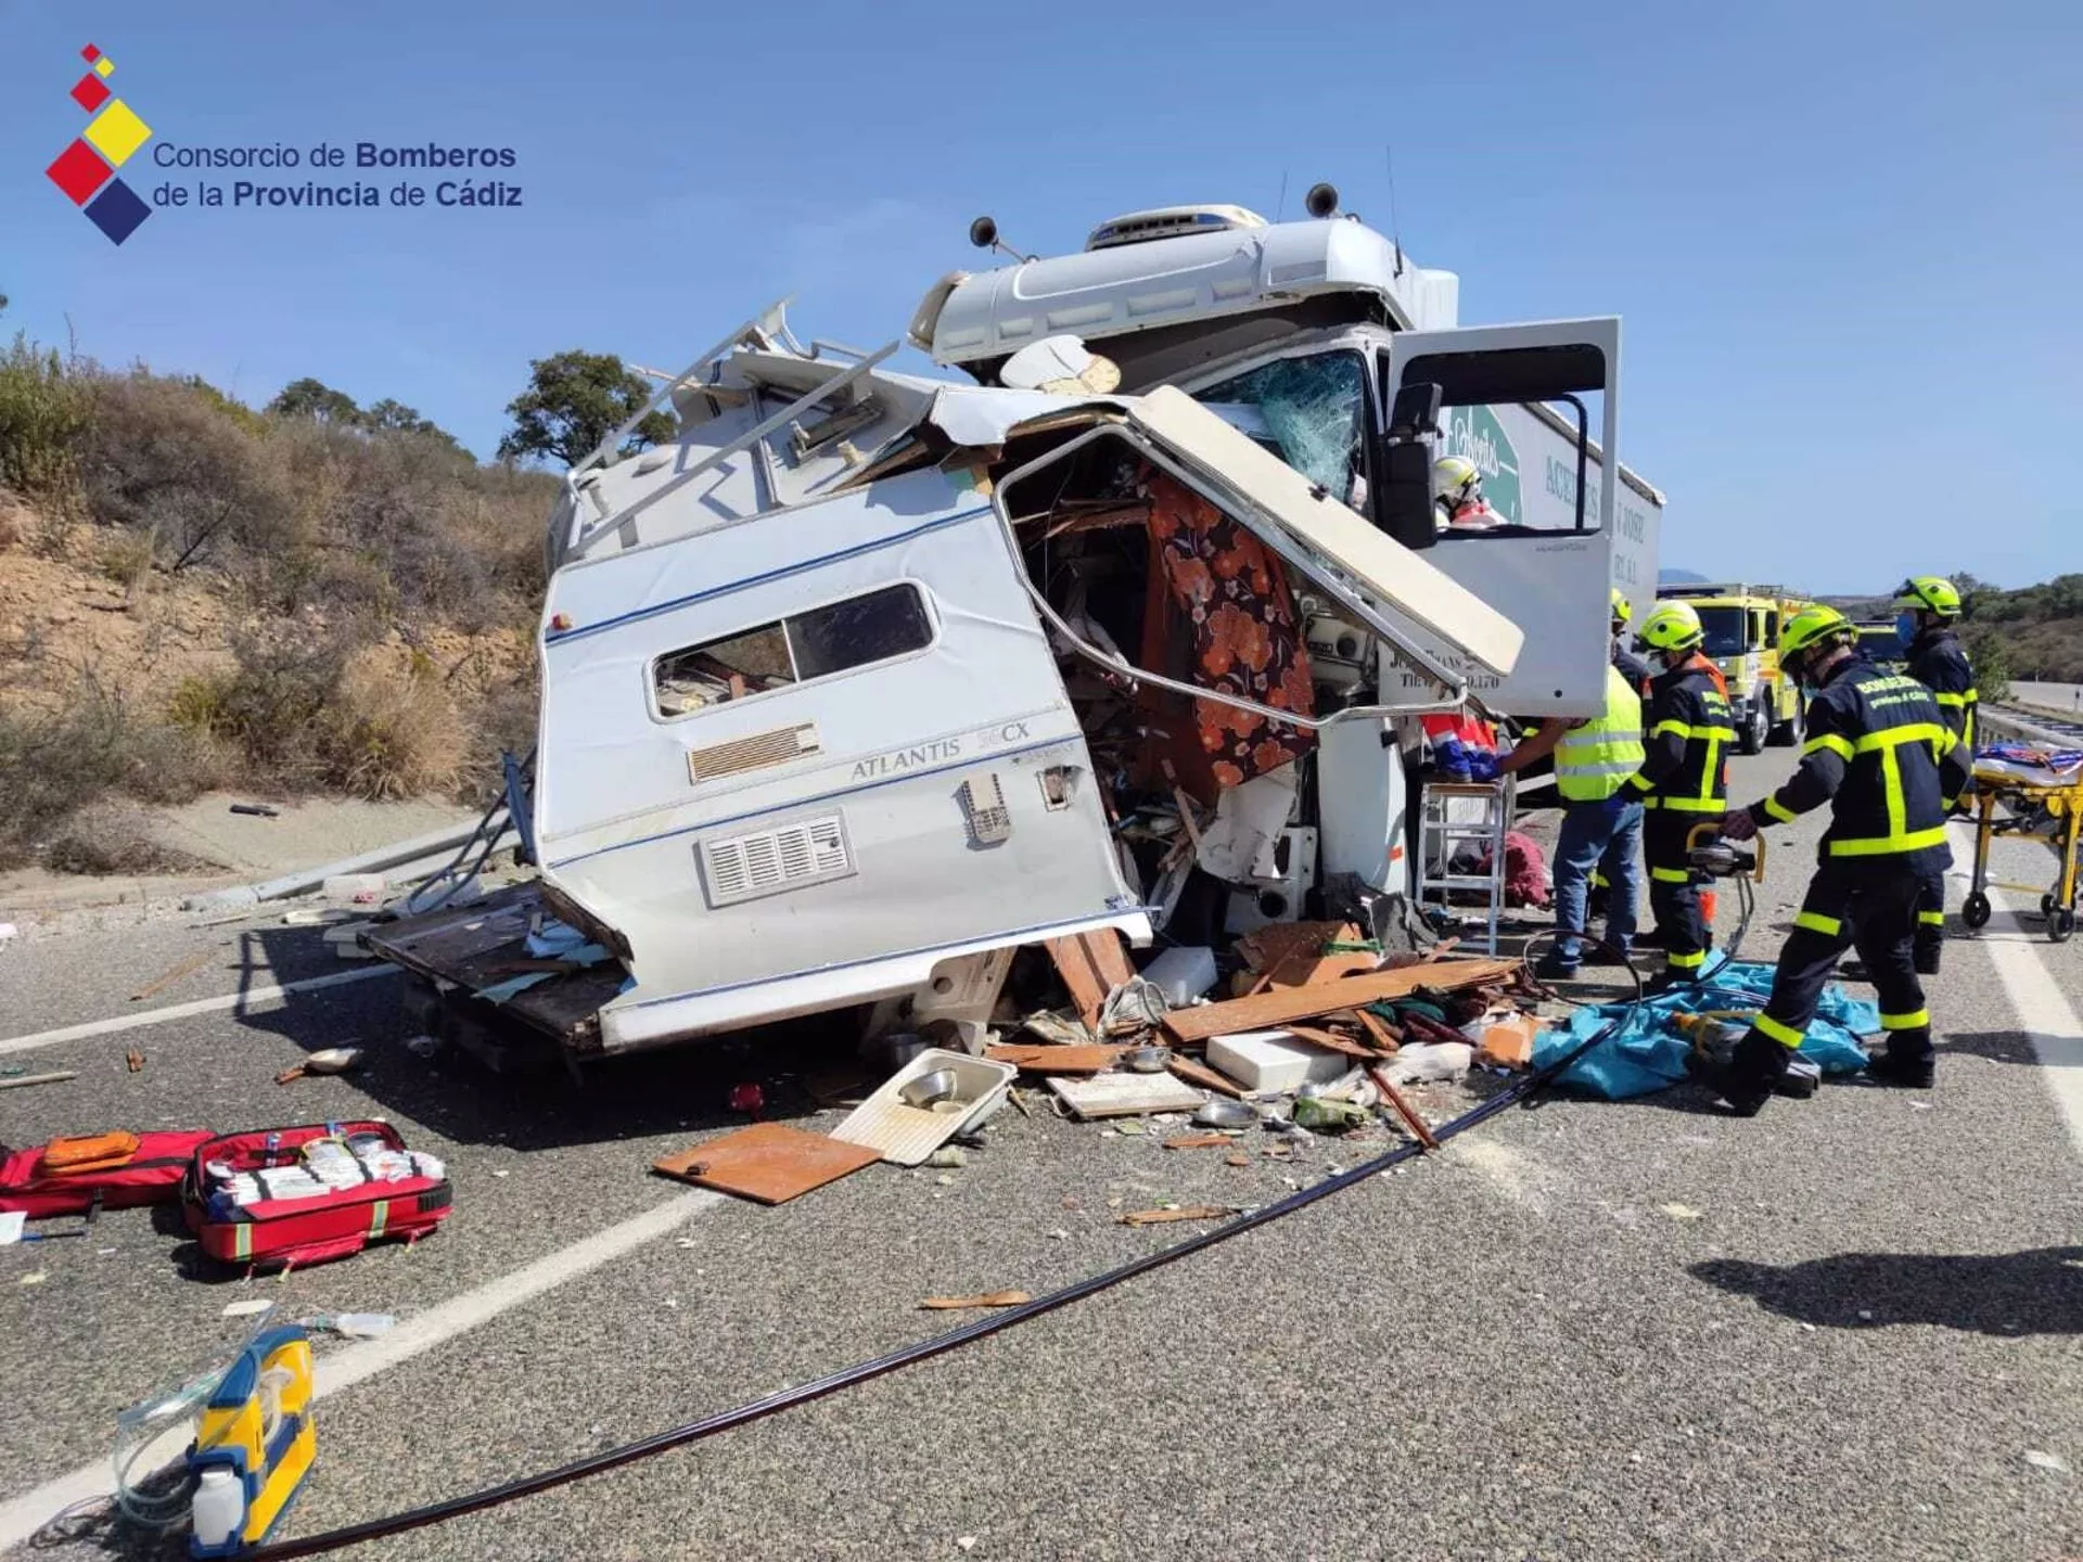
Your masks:
<instances>
[{"instance_id":1,"label":"Consorcio de Bomberos de la Provincia de C\u00e1diz text beside the logo","mask_svg":"<svg viewBox=\"0 0 2083 1562\"><path fill-rule=\"evenodd\" d=\"M510 146L387 146L383 142L317 142L292 146L185 146L160 142L152 162L169 173L152 192L154 206L519 206L521 185L504 177L519 165ZM337 171L337 173L335 173ZM229 173L233 177L212 177ZM302 175L302 177L298 177ZM404 175L404 177L396 177Z\"/></svg>"}]
</instances>

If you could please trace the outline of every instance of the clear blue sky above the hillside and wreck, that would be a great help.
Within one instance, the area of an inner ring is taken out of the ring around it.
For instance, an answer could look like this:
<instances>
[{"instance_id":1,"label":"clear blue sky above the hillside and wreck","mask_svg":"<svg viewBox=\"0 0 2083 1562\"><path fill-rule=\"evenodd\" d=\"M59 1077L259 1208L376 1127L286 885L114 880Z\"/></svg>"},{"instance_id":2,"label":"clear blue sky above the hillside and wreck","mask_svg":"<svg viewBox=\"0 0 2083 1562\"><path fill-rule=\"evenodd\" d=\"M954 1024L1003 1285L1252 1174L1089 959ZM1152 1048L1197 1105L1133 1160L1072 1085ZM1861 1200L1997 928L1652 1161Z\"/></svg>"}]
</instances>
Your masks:
<instances>
[{"instance_id":1,"label":"clear blue sky above the hillside and wreck","mask_svg":"<svg viewBox=\"0 0 2083 1562\"><path fill-rule=\"evenodd\" d=\"M0 325L252 402L396 396L490 454L533 356L679 369L787 292L800 335L875 346L985 210L1050 254L1139 206L1273 217L1285 175L1289 217L1331 179L1385 227L1394 142L1464 323L1623 317L1664 564L2083 571L2083 10L1693 10L0 0ZM523 206L162 210L110 246L42 173L87 42L156 144L510 146Z\"/></svg>"}]
</instances>

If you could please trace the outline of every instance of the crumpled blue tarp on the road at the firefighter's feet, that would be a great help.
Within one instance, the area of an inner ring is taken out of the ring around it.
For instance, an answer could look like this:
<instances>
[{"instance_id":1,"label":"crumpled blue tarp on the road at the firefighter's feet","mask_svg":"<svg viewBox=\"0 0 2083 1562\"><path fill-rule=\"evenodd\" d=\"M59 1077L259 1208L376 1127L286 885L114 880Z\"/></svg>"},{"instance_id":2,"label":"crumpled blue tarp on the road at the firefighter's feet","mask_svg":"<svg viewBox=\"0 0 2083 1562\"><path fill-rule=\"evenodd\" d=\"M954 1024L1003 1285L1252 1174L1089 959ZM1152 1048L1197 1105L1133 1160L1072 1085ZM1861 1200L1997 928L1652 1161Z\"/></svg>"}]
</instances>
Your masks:
<instances>
[{"instance_id":1,"label":"crumpled blue tarp on the road at the firefighter's feet","mask_svg":"<svg viewBox=\"0 0 2083 1562\"><path fill-rule=\"evenodd\" d=\"M1571 1085L1587 1095L1608 1102L1625 1102L1631 1095L1650 1095L1668 1089L1685 1079L1685 1056L1691 1052L1691 1037L1671 1025L1671 1014L1698 1014L1702 1010L1754 1010L1773 991L1773 966L1727 960L1706 975L1698 987L1683 987L1662 998L1643 1002L1633 1021L1621 1025L1610 1037L1562 1070L1556 1083ZM1627 1004L1602 1004L1579 1008L1566 1025L1541 1031L1533 1041L1533 1066L1541 1068L1571 1048L1583 1043L1612 1018L1627 1014ZM1808 1025L1802 1041L1802 1056L1825 1075L1852 1075L1866 1066L1866 1054L1858 1037L1881 1029L1881 1010L1864 998L1852 998L1843 987L1823 989L1823 1002Z\"/></svg>"}]
</instances>

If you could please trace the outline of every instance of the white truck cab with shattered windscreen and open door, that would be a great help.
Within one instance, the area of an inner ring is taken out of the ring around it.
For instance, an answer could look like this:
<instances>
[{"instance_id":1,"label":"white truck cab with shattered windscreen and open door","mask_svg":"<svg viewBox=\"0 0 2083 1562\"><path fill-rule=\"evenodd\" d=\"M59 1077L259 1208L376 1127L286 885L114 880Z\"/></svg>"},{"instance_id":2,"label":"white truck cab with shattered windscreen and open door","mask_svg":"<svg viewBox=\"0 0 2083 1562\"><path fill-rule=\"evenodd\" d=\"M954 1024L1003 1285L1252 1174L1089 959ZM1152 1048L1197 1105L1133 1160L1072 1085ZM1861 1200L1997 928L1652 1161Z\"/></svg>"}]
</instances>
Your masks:
<instances>
[{"instance_id":1,"label":"white truck cab with shattered windscreen and open door","mask_svg":"<svg viewBox=\"0 0 2083 1562\"><path fill-rule=\"evenodd\" d=\"M1608 462L1618 321L1460 327L1454 273L1335 212L1329 187L1310 194L1323 210L1312 221L1266 223L1237 206L1129 212L1079 254L950 273L910 339L989 385L1029 344L1075 333L1119 367L1121 389L1179 385L1519 623L1519 669L1471 685L1487 708L1593 714L1610 654L1598 604L1616 585L1648 606L1664 504ZM1437 404L1412 398L1402 412L1416 417L1400 417L1406 385L1435 385ZM1410 471L1389 452L1416 442L1475 462L1496 525L1396 519L1385 489ZM1391 666L1389 681L1412 706L1431 698L1414 669Z\"/></svg>"}]
</instances>

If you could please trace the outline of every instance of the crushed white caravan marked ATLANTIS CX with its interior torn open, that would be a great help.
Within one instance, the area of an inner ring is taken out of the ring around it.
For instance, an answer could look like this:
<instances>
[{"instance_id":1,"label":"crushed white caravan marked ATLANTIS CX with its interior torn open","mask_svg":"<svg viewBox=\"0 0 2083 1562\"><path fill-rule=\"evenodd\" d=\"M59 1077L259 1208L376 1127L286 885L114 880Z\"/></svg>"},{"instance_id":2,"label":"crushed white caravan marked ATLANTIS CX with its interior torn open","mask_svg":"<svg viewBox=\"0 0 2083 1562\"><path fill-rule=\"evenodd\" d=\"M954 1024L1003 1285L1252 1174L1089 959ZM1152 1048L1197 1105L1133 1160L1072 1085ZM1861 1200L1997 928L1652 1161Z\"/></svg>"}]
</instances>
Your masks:
<instances>
[{"instance_id":1,"label":"crushed white caravan marked ATLANTIS CX with its interior torn open","mask_svg":"<svg viewBox=\"0 0 2083 1562\"><path fill-rule=\"evenodd\" d=\"M1616 381L1610 321L1404 337L1339 475L1148 354L1121 394L1116 342L1037 333L962 385L746 323L658 392L677 439L608 460L619 431L552 519L539 881L371 948L589 1056L856 1006L975 1041L1021 946L1379 927L1408 716L1527 669L1433 562L1441 408L1568 396L1610 431ZM1602 654L1602 581L1573 614Z\"/></svg>"}]
</instances>

